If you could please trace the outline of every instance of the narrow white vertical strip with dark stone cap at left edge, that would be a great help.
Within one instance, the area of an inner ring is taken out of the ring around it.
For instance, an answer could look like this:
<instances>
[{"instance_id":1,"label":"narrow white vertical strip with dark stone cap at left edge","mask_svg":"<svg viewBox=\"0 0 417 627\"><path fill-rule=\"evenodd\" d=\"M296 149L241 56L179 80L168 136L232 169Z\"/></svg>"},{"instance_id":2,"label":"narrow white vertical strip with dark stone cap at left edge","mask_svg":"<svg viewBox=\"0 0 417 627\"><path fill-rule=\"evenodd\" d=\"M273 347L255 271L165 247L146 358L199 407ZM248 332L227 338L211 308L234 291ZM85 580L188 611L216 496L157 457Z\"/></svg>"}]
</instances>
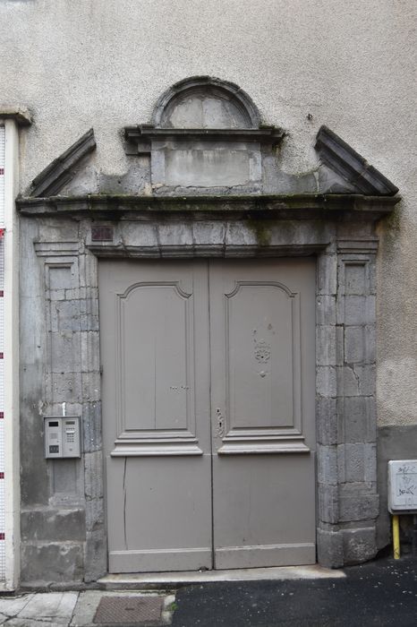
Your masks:
<instances>
[{"instance_id":1,"label":"narrow white vertical strip with dark stone cap at left edge","mask_svg":"<svg viewBox=\"0 0 417 627\"><path fill-rule=\"evenodd\" d=\"M3 589L20 580L20 450L19 450L19 126L30 125L20 108L0 109L4 126L4 544ZM0 588L1 589L1 588Z\"/></svg>"}]
</instances>

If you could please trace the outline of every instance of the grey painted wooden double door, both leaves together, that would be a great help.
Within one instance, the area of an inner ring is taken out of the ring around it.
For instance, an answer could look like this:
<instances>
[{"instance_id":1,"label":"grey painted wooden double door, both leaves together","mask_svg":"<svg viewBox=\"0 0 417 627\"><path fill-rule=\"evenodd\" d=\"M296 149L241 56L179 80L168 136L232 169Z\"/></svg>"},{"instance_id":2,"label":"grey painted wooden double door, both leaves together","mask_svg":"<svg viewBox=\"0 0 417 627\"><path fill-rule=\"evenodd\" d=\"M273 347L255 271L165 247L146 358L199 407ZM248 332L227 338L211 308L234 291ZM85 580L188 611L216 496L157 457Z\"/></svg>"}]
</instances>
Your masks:
<instances>
[{"instance_id":1,"label":"grey painted wooden double door, both leaves together","mask_svg":"<svg viewBox=\"0 0 417 627\"><path fill-rule=\"evenodd\" d=\"M100 261L109 571L315 562L311 259Z\"/></svg>"}]
</instances>

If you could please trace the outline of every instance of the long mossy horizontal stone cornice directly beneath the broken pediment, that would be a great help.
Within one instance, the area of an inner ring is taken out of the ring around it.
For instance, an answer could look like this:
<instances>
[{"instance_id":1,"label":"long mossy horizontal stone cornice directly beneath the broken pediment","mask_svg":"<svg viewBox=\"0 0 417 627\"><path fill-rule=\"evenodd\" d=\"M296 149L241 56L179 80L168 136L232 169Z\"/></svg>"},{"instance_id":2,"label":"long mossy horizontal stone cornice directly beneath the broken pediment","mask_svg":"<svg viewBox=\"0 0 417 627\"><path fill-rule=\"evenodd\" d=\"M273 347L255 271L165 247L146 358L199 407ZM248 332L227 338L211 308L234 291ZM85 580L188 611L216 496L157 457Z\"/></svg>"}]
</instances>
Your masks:
<instances>
[{"instance_id":1,"label":"long mossy horizontal stone cornice directly beneath the broken pediment","mask_svg":"<svg viewBox=\"0 0 417 627\"><path fill-rule=\"evenodd\" d=\"M137 219L161 214L172 219L359 219L375 221L390 213L400 196L359 194L294 194L251 196L123 196L86 195L18 198L22 215L118 219L129 213Z\"/></svg>"}]
</instances>

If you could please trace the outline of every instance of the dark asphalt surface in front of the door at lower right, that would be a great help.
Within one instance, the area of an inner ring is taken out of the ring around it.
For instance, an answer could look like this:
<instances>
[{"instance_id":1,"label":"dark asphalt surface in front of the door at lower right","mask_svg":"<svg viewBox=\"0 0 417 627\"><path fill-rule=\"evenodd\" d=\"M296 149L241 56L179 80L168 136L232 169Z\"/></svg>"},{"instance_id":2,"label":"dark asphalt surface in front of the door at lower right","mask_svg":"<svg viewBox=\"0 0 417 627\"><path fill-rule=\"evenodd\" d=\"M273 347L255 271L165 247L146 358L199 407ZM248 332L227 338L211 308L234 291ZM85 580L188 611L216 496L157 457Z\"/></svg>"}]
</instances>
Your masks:
<instances>
[{"instance_id":1,"label":"dark asphalt surface in front of the door at lower right","mask_svg":"<svg viewBox=\"0 0 417 627\"><path fill-rule=\"evenodd\" d=\"M174 627L417 627L417 560L377 560L336 580L209 583L177 591Z\"/></svg>"}]
</instances>

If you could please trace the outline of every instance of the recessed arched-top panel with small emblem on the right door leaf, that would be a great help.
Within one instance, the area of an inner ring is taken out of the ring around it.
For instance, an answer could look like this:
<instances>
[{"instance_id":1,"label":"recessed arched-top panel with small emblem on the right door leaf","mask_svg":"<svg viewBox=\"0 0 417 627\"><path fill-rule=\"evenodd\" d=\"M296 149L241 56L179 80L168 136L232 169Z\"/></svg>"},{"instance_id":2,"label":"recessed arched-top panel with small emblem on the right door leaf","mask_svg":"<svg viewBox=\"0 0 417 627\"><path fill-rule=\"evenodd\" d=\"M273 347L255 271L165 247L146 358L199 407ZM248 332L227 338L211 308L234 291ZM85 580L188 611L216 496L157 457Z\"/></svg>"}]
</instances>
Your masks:
<instances>
[{"instance_id":1,"label":"recessed arched-top panel with small emblem on the right door leaf","mask_svg":"<svg viewBox=\"0 0 417 627\"><path fill-rule=\"evenodd\" d=\"M231 429L294 426L299 420L297 296L273 280L241 280L225 295Z\"/></svg>"}]
</instances>

